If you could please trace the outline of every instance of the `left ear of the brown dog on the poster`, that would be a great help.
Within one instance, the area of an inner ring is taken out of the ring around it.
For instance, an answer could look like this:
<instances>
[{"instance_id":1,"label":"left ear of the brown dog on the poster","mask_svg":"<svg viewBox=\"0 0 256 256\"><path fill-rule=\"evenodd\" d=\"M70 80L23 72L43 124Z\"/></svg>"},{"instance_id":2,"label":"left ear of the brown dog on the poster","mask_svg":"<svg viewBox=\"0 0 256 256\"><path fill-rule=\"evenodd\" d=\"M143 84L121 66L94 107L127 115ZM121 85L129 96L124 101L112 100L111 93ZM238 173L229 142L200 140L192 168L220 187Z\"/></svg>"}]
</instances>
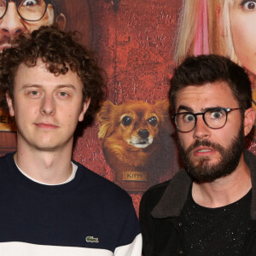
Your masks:
<instances>
[{"instance_id":1,"label":"left ear of the brown dog on the poster","mask_svg":"<svg viewBox=\"0 0 256 256\"><path fill-rule=\"evenodd\" d=\"M110 101L103 102L101 110L96 115L96 119L99 123L99 138L106 137L108 130L111 127L111 112L114 107L115 105Z\"/></svg>"}]
</instances>

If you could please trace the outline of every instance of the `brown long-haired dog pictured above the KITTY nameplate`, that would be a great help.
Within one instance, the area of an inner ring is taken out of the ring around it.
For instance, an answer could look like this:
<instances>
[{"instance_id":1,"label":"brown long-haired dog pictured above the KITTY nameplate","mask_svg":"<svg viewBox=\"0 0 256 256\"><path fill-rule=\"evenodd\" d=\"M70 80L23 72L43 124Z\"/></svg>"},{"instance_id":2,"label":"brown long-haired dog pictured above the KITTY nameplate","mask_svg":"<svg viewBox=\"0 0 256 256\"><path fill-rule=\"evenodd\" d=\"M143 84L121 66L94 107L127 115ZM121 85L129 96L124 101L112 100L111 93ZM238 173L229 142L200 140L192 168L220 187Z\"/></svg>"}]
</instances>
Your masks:
<instances>
[{"instance_id":1,"label":"brown long-haired dog pictured above the KITTY nameplate","mask_svg":"<svg viewBox=\"0 0 256 256\"><path fill-rule=\"evenodd\" d=\"M97 120L103 154L115 172L148 172L155 183L160 172L172 164L176 149L167 101L121 105L107 101Z\"/></svg>"}]
</instances>

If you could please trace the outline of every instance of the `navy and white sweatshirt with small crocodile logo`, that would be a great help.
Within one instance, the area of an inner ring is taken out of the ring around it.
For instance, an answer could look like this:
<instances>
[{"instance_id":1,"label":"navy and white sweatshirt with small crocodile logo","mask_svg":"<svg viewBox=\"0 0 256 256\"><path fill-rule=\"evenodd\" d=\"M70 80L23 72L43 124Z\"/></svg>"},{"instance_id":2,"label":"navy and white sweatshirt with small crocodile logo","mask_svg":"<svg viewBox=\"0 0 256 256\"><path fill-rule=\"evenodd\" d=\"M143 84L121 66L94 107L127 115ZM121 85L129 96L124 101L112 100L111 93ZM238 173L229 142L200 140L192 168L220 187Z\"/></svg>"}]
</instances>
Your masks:
<instances>
[{"instance_id":1,"label":"navy and white sweatshirt with small crocodile logo","mask_svg":"<svg viewBox=\"0 0 256 256\"><path fill-rule=\"evenodd\" d=\"M1 256L141 256L131 197L74 163L72 181L49 186L24 176L14 154L0 158Z\"/></svg>"}]
</instances>

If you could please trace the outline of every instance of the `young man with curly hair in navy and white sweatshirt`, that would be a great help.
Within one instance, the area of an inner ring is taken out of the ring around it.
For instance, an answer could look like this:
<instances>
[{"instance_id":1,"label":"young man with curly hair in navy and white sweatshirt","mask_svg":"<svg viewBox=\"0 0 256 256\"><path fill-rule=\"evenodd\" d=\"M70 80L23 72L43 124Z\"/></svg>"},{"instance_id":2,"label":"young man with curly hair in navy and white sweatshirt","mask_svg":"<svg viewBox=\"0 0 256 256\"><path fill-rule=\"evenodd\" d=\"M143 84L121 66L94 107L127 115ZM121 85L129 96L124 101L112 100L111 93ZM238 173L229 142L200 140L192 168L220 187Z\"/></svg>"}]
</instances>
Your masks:
<instances>
[{"instance_id":1,"label":"young man with curly hair in navy and white sweatshirt","mask_svg":"<svg viewBox=\"0 0 256 256\"><path fill-rule=\"evenodd\" d=\"M17 151L0 159L1 255L140 256L131 197L72 160L76 126L104 95L95 56L44 26L3 50L0 84L17 125Z\"/></svg>"}]
</instances>

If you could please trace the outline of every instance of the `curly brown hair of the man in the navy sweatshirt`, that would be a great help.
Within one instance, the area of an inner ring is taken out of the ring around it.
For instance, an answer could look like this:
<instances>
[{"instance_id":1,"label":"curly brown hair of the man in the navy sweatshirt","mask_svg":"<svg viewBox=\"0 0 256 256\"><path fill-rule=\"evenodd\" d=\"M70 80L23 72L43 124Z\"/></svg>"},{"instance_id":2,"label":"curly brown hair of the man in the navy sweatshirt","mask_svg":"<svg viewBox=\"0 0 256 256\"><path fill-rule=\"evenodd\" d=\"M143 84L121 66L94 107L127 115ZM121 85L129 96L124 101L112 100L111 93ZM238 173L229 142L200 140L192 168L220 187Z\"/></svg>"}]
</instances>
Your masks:
<instances>
[{"instance_id":1,"label":"curly brown hair of the man in the navy sweatshirt","mask_svg":"<svg viewBox=\"0 0 256 256\"><path fill-rule=\"evenodd\" d=\"M77 32L62 32L56 26L41 26L32 34L21 34L13 48L4 49L0 55L0 106L8 109L6 93L13 99L20 64L34 67L41 60L55 76L66 74L69 69L78 73L84 84L83 102L90 99L86 115L94 116L104 100L105 73L96 56L77 43L77 36Z\"/></svg>"}]
</instances>

